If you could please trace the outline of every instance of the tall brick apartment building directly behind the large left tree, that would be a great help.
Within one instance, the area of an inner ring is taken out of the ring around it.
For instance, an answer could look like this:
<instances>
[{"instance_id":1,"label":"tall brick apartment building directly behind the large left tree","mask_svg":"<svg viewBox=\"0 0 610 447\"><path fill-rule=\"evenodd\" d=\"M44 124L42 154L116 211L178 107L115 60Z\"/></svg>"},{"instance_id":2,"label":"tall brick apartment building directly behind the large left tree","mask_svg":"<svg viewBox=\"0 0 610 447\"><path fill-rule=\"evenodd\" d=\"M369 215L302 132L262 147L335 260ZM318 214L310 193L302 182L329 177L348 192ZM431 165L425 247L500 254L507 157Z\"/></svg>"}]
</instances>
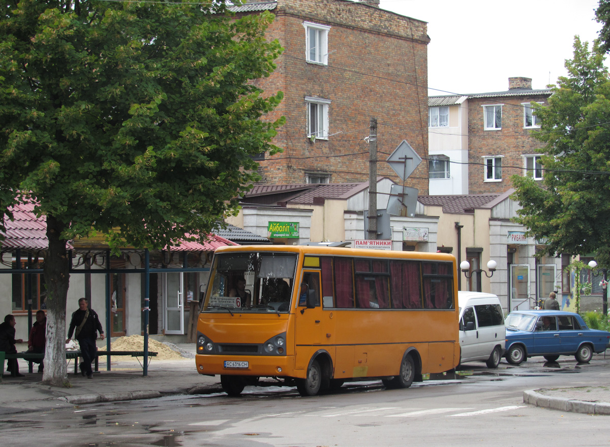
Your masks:
<instances>
[{"instance_id":1,"label":"tall brick apartment building directly behind the large left tree","mask_svg":"<svg viewBox=\"0 0 610 447\"><path fill-rule=\"evenodd\" d=\"M344 183L368 179L366 137L378 119L378 158L405 139L425 157L429 38L426 23L348 0L278 0L233 8L237 16L269 10L267 31L284 53L259 85L284 92L268 118L286 117L274 144L282 153L259 160L262 182ZM386 163L378 174L398 180ZM420 164L407 186L428 191Z\"/></svg>"}]
</instances>

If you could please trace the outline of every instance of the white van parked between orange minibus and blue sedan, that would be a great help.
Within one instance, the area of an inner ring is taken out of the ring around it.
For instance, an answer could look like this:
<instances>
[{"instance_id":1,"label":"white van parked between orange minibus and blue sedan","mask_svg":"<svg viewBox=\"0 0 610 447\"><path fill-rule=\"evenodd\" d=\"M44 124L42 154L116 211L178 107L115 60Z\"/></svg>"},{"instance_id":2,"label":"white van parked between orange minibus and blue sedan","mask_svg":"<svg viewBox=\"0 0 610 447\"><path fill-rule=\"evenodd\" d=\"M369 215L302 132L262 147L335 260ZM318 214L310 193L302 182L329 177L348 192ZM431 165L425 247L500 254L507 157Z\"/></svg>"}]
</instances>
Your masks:
<instances>
[{"instance_id":1,"label":"white van parked between orange minibus and blue sedan","mask_svg":"<svg viewBox=\"0 0 610 447\"><path fill-rule=\"evenodd\" d=\"M494 294L458 292L460 363L485 361L497 368L504 355L506 326Z\"/></svg>"}]
</instances>

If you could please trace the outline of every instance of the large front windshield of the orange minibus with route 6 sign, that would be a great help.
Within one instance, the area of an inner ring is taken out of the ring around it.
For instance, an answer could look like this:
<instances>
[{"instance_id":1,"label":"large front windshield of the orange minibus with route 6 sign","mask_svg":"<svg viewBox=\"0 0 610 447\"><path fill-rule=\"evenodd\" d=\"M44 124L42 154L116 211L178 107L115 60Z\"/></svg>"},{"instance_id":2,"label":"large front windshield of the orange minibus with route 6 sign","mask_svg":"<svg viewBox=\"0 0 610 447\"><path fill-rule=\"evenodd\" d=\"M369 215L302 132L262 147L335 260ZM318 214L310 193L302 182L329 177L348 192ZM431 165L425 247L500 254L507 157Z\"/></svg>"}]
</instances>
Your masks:
<instances>
[{"instance_id":1,"label":"large front windshield of the orange minibus with route 6 sign","mask_svg":"<svg viewBox=\"0 0 610 447\"><path fill-rule=\"evenodd\" d=\"M203 312L287 313L296 253L236 252L214 256Z\"/></svg>"}]
</instances>

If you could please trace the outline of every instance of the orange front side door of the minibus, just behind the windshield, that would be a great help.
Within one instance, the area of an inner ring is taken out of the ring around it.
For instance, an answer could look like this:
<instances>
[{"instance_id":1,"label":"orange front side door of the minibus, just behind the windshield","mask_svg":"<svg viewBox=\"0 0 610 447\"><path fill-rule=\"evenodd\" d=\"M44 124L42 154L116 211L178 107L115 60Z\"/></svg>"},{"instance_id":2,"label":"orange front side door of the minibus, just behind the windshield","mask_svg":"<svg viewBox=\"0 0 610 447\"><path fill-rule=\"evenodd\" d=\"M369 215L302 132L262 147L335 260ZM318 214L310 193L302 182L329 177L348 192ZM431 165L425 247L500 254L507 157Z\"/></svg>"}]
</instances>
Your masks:
<instances>
[{"instance_id":1,"label":"orange front side door of the minibus, just behind the windshield","mask_svg":"<svg viewBox=\"0 0 610 447\"><path fill-rule=\"evenodd\" d=\"M308 307L309 306L311 307ZM323 318L320 294L320 272L303 270L296 303L296 368L307 368L311 356L328 343L328 317ZM328 313L328 312L327 312Z\"/></svg>"}]
</instances>

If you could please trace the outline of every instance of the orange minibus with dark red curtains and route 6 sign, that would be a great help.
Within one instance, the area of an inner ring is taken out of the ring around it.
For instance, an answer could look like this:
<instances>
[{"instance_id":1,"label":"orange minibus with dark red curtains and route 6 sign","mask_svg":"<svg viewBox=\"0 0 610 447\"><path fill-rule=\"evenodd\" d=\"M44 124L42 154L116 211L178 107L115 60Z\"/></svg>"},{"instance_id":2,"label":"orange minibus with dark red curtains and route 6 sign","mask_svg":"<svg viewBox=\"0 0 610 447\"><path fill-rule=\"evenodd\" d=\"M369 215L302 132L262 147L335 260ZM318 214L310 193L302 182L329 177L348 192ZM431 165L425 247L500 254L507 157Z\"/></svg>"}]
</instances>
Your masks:
<instances>
[{"instance_id":1,"label":"orange minibus with dark red curtains and route 6 sign","mask_svg":"<svg viewBox=\"0 0 610 447\"><path fill-rule=\"evenodd\" d=\"M303 396L345 381L406 388L459 364L456 259L317 245L218 248L196 368L236 396L260 378Z\"/></svg>"}]
</instances>

